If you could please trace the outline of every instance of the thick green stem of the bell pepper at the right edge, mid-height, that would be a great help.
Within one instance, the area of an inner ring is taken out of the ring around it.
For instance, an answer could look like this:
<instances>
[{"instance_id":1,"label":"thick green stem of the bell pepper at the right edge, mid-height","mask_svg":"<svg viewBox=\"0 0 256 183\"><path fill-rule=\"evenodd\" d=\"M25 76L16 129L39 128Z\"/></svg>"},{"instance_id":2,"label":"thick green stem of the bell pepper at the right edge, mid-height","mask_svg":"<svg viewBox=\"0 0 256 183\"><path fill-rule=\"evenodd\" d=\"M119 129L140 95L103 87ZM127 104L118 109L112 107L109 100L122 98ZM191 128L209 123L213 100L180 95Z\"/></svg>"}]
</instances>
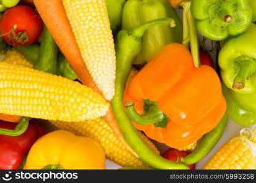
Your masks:
<instances>
[{"instance_id":1,"label":"thick green stem of the bell pepper at the right edge, mid-height","mask_svg":"<svg viewBox=\"0 0 256 183\"><path fill-rule=\"evenodd\" d=\"M235 63L239 66L239 71L234 79L233 88L241 90L244 88L246 79L256 72L256 59L248 56L241 56L235 60Z\"/></svg>"}]
</instances>

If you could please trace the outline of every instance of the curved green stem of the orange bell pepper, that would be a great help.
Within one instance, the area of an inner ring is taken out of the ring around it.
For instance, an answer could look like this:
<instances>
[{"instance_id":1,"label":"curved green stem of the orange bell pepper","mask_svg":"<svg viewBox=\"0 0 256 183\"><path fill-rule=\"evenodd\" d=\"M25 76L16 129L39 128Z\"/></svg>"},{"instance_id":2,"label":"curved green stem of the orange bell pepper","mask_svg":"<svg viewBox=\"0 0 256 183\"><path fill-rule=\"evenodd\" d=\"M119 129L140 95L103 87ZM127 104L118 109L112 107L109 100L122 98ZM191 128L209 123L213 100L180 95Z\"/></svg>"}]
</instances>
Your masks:
<instances>
[{"instance_id":1,"label":"curved green stem of the orange bell pepper","mask_svg":"<svg viewBox=\"0 0 256 183\"><path fill-rule=\"evenodd\" d=\"M139 115L134 109L134 102L126 102L126 112L130 120L134 123L146 125L159 123L165 120L164 113L157 106L151 105L148 112L143 115Z\"/></svg>"}]
</instances>

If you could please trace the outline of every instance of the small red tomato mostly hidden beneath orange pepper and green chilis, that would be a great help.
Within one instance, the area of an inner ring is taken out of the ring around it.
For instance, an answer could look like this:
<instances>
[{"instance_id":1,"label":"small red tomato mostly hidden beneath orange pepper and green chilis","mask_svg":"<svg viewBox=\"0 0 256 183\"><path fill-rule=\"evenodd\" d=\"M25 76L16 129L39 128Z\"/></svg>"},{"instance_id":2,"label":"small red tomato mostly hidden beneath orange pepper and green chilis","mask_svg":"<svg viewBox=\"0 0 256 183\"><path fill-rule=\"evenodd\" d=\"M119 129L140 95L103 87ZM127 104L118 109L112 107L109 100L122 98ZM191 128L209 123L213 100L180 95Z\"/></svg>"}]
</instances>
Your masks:
<instances>
[{"instance_id":1,"label":"small red tomato mostly hidden beneath orange pepper and green chilis","mask_svg":"<svg viewBox=\"0 0 256 183\"><path fill-rule=\"evenodd\" d=\"M181 157L186 157L189 155L187 151L178 151L177 149L168 149L164 152L162 157L165 159L171 160L173 162L181 162ZM195 164L188 165L190 170L195 170Z\"/></svg>"}]
</instances>

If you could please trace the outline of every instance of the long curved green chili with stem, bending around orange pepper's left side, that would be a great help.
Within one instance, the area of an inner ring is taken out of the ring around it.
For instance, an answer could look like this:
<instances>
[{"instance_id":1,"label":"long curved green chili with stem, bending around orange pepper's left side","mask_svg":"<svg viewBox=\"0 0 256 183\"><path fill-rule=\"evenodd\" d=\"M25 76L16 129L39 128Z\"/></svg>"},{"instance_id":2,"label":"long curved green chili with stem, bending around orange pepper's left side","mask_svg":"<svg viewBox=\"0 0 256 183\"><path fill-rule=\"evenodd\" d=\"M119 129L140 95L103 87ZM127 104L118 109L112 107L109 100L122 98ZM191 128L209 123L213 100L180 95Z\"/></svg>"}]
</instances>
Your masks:
<instances>
[{"instance_id":1,"label":"long curved green chili with stem, bending around orange pepper's left side","mask_svg":"<svg viewBox=\"0 0 256 183\"><path fill-rule=\"evenodd\" d=\"M175 21L172 18L160 18L142 24L135 29L121 30L118 33L116 44L115 95L111 100L111 104L124 138L143 162L159 169L189 169L184 163L171 162L152 151L140 137L122 106L124 88L132 68L132 61L141 51L142 37L147 29L158 24L169 24L173 27L175 26Z\"/></svg>"}]
</instances>

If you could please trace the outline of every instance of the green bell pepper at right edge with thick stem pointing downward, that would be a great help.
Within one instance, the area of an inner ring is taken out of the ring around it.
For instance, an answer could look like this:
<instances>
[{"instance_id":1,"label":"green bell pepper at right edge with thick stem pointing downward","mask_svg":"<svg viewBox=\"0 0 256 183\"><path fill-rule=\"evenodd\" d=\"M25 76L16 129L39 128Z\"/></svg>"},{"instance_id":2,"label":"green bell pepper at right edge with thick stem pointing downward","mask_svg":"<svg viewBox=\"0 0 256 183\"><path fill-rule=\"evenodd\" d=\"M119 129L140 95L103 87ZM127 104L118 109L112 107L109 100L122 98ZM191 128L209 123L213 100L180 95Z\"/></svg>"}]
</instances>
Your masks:
<instances>
[{"instance_id":1,"label":"green bell pepper at right edge with thick stem pointing downward","mask_svg":"<svg viewBox=\"0 0 256 183\"><path fill-rule=\"evenodd\" d=\"M219 52L224 84L238 93L254 93L256 86L256 25L233 37Z\"/></svg>"}]
</instances>

